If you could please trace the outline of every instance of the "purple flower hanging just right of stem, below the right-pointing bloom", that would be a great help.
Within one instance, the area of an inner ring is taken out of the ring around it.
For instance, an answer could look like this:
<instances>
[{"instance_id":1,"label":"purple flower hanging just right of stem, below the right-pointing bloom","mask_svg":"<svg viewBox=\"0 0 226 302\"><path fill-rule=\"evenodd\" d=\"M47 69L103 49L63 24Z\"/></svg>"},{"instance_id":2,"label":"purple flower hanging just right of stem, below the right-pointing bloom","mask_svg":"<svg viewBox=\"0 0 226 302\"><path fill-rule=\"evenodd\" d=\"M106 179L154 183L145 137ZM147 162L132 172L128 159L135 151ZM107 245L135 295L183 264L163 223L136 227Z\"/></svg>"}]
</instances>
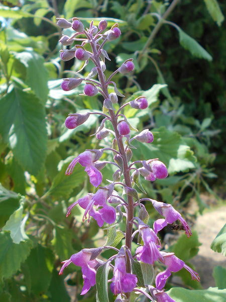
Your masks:
<instances>
[{"instance_id":1,"label":"purple flower hanging just right of stem, below the right-pointing bloom","mask_svg":"<svg viewBox=\"0 0 226 302\"><path fill-rule=\"evenodd\" d=\"M139 223L139 232L144 242L144 246L140 246L136 250L137 259L145 263L153 264L163 257L158 248L160 247L159 239L152 229L145 223Z\"/></svg>"}]
</instances>

